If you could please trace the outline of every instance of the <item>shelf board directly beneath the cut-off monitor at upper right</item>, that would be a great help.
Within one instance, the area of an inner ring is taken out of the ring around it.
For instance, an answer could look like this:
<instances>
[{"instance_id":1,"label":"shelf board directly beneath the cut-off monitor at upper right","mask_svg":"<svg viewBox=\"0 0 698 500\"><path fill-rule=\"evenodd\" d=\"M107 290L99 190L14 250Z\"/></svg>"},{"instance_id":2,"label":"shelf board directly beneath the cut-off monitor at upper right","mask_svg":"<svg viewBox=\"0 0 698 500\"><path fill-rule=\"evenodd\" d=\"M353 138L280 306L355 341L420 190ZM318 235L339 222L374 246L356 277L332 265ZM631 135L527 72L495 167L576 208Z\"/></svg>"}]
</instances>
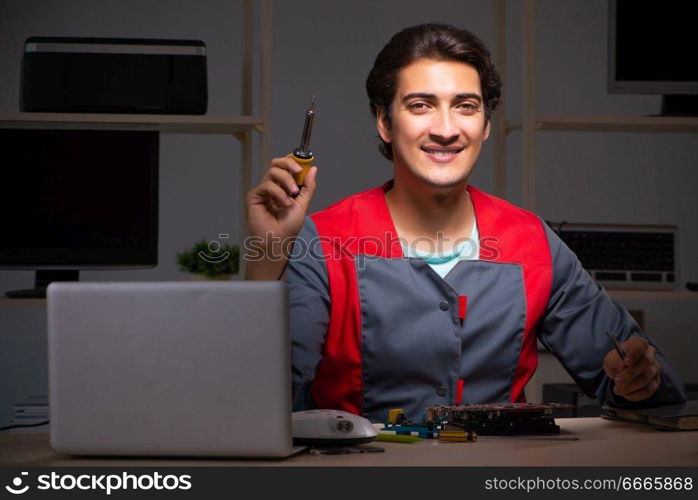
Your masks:
<instances>
[{"instance_id":1,"label":"shelf board directly beneath the cut-off monitor at upper right","mask_svg":"<svg viewBox=\"0 0 698 500\"><path fill-rule=\"evenodd\" d=\"M506 132L521 130L521 120L508 120ZM587 132L698 132L698 117L689 116L541 116L536 130L572 130Z\"/></svg>"}]
</instances>

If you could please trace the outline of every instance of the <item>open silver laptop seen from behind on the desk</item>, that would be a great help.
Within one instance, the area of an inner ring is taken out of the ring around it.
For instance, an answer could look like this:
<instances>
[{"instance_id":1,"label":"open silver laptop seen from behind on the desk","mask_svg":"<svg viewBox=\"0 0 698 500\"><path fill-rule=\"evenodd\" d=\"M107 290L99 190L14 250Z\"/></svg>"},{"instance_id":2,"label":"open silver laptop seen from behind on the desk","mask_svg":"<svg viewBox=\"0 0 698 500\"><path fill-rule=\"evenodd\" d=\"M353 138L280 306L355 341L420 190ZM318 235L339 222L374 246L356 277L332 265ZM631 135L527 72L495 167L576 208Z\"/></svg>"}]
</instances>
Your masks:
<instances>
[{"instance_id":1,"label":"open silver laptop seen from behind on the desk","mask_svg":"<svg viewBox=\"0 0 698 500\"><path fill-rule=\"evenodd\" d=\"M47 299L56 452L297 451L285 283L52 283Z\"/></svg>"}]
</instances>

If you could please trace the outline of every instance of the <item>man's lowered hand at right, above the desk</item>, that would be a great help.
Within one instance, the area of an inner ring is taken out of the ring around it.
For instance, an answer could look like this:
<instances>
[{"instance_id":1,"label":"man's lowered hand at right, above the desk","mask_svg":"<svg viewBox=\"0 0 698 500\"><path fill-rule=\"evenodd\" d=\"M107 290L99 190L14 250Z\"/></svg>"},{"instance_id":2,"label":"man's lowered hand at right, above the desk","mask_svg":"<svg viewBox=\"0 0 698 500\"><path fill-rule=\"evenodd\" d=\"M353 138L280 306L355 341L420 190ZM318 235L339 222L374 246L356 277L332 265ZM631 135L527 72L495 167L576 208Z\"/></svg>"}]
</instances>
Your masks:
<instances>
[{"instance_id":1,"label":"man's lowered hand at right, above the desk","mask_svg":"<svg viewBox=\"0 0 698 500\"><path fill-rule=\"evenodd\" d=\"M615 394L628 401L643 401L655 393L661 380L657 350L640 337L633 337L621 346L625 358L611 350L603 360L604 371L615 381Z\"/></svg>"}]
</instances>

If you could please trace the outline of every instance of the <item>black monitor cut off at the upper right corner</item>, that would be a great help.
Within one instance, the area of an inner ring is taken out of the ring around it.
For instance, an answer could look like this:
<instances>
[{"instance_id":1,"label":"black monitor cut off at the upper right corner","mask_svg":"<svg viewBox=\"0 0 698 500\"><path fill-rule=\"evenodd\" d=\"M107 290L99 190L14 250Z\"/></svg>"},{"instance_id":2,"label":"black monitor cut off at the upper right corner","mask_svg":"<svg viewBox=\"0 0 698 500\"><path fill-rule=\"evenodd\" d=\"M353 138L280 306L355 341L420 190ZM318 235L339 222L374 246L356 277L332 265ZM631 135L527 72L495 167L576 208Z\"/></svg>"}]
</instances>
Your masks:
<instances>
[{"instance_id":1,"label":"black monitor cut off at the upper right corner","mask_svg":"<svg viewBox=\"0 0 698 500\"><path fill-rule=\"evenodd\" d=\"M662 94L662 114L698 114L695 19L690 3L610 0L608 90Z\"/></svg>"}]
</instances>

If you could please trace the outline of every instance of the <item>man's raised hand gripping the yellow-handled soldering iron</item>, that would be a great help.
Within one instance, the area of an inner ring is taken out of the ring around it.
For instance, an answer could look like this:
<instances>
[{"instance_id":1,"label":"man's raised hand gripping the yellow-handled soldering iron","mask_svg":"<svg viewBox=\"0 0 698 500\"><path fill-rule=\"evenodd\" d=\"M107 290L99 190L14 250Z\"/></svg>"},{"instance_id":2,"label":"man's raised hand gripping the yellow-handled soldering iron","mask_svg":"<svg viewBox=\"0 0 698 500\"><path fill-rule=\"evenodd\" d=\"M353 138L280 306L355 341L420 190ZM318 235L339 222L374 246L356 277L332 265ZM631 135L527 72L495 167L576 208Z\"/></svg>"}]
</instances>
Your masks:
<instances>
[{"instance_id":1,"label":"man's raised hand gripping the yellow-handled soldering iron","mask_svg":"<svg viewBox=\"0 0 698 500\"><path fill-rule=\"evenodd\" d=\"M290 156L274 158L258 186L247 193L247 231L264 256L247 260L248 280L278 279L286 267L289 242L303 227L315 194L317 167L311 167L299 188L293 174L301 171ZM295 196L295 198L293 197Z\"/></svg>"}]
</instances>

